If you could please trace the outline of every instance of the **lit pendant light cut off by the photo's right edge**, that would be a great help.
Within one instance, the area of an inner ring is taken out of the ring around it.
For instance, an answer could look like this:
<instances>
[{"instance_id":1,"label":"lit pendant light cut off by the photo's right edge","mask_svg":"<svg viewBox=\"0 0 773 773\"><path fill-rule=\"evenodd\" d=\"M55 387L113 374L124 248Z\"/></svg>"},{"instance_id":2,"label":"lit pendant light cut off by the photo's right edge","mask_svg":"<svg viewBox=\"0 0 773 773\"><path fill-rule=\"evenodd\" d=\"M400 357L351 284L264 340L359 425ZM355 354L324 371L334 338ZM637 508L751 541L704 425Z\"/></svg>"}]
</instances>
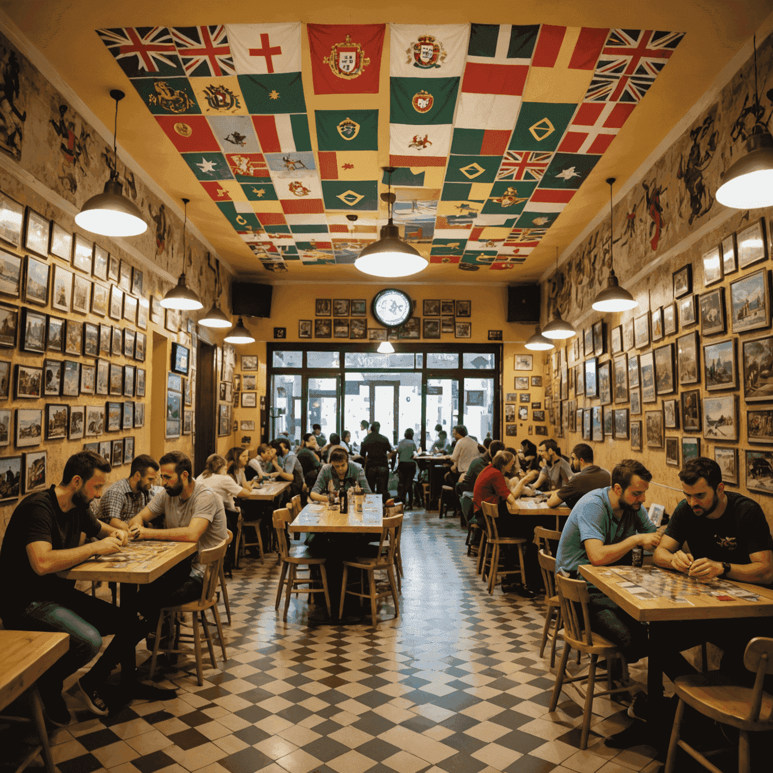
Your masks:
<instances>
[{"instance_id":1,"label":"lit pendant light cut off by the photo's right edge","mask_svg":"<svg viewBox=\"0 0 773 773\"><path fill-rule=\"evenodd\" d=\"M720 175L717 201L734 209L759 209L773 205L773 137L759 122L762 113L757 89L757 36L754 36L754 115L757 119L751 137L745 142L745 155Z\"/></svg>"}]
</instances>

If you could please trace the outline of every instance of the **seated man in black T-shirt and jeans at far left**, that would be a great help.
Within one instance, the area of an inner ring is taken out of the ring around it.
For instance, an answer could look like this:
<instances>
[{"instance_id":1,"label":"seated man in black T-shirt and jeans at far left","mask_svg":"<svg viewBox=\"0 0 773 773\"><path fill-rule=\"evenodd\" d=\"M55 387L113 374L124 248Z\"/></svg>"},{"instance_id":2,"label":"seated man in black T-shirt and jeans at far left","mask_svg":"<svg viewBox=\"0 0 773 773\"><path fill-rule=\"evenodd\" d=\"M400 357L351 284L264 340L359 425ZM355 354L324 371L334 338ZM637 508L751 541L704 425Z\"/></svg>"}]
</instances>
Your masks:
<instances>
[{"instance_id":1,"label":"seated man in black T-shirt and jeans at far left","mask_svg":"<svg viewBox=\"0 0 773 773\"><path fill-rule=\"evenodd\" d=\"M108 472L109 462L93 451L72 455L60 484L22 499L0 550L0 577L5 587L0 615L5 628L70 634L70 649L38 679L46 718L60 727L70 722L63 681L97 655L104 635L117 634L78 683L87 707L96 714L107 714L100 693L119 661L131 663L126 673L134 673L137 639L131 638L131 621L120 608L77 591L74 581L56 576L93 556L117 553L127 543L126 530L114 529L89 512ZM98 541L81 543L82 534L87 539L98 537Z\"/></svg>"}]
</instances>

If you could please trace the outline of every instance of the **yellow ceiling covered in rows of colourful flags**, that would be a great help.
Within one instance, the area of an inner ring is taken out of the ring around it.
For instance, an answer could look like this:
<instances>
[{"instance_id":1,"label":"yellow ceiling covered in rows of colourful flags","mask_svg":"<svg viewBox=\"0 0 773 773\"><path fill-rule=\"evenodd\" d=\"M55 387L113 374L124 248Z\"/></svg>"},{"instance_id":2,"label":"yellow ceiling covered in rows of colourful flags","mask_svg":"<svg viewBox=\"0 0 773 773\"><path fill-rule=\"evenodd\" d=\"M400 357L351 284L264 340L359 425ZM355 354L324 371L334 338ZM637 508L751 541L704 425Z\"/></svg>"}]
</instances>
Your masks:
<instances>
[{"instance_id":1,"label":"yellow ceiling covered in rows of colourful flags","mask_svg":"<svg viewBox=\"0 0 773 773\"><path fill-rule=\"evenodd\" d=\"M608 201L604 179L635 171L770 10L19 5L0 0L105 124L108 90L127 91L119 141L264 281L362 278L386 165L394 221L431 263L417 278L536 281Z\"/></svg>"}]
</instances>

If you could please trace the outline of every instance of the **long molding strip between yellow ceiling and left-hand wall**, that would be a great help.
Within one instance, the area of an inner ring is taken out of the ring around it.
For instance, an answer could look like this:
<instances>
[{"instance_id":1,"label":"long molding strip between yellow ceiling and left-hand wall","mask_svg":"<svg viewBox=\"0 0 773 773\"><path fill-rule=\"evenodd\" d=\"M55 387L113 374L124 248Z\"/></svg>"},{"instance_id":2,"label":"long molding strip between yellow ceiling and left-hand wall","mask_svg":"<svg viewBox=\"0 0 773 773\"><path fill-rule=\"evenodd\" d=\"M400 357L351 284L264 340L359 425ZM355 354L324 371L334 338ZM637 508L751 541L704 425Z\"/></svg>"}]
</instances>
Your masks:
<instances>
[{"instance_id":1,"label":"long molding strip between yellow ceiling and left-hand wall","mask_svg":"<svg viewBox=\"0 0 773 773\"><path fill-rule=\"evenodd\" d=\"M27 59L29 59L32 64L38 68L43 77L45 77L46 80L48 80L49 83L51 83L51 85L56 90L58 90L68 102L73 105L73 107L83 116L83 118L91 124L91 126L95 131L97 131L101 138L103 138L108 145L112 145L113 132L110 131L110 129L108 129L107 126L105 126L96 115L94 115L94 113L90 110L90 107L88 107L87 104L85 104L83 100L81 100L80 97L72 90L72 88L70 88L70 86L65 83L64 80L62 80L59 72L49 62L49 60L46 59L46 56L44 56L43 53L41 53L39 49L36 48L36 46L32 45L32 42L29 40L29 38L27 38L21 32L19 27L17 27L14 22L12 22L9 16L2 9L0 9L0 29L2 29L3 34L11 41L11 43L13 43L13 45L16 46L19 51L21 51L24 56L26 56ZM182 220L185 219L185 216L182 212L182 207L179 206L179 203L175 202L175 199L172 199L172 197L169 196L169 194L165 192L164 189L158 186L158 183L155 182L155 180L152 179L152 177L150 177L147 172L145 172L145 169L143 169L134 158L132 158L132 156L126 151L120 142L117 143L117 148L121 152L121 161L123 161L125 165L128 165L135 173L135 175L137 175L142 180L142 182L144 182L145 185L148 186L148 188L151 189L152 192L154 192L155 195L158 196L158 198L169 207L169 209L172 209L175 215L177 215L182 222ZM46 190L49 189L46 188ZM58 194L55 193L54 195L58 196ZM58 197L61 199L60 196ZM61 200L65 201L66 199ZM75 211L77 212L79 210L76 209ZM217 250L212 246L211 243L209 243L209 240L199 230L198 226L196 226L196 223L192 223L190 220L188 223L188 229L192 231L192 233L203 244L203 246L206 247L206 249L209 250L209 252L211 252L213 256L220 261L221 266L226 267L226 270L233 277L236 277L237 272L234 271L233 267L228 261L224 260L223 257L220 257L220 254L218 254ZM121 244L122 246L126 247L125 243L121 242ZM127 251L131 252L131 249L127 248ZM132 254L137 254L137 252L138 251L135 250L132 252ZM158 269L155 264L153 264L153 267ZM177 278L175 277L173 281L176 284Z\"/></svg>"}]
</instances>

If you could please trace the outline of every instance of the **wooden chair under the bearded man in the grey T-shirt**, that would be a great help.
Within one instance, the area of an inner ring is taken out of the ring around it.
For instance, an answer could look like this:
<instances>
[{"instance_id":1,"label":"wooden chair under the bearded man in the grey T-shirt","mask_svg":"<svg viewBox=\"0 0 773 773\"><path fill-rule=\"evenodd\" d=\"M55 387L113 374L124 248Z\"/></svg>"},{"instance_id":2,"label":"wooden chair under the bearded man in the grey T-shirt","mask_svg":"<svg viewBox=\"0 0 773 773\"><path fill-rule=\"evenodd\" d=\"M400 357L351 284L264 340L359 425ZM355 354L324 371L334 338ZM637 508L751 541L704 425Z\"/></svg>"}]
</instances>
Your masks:
<instances>
[{"instance_id":1,"label":"wooden chair under the bearded man in the grey T-shirt","mask_svg":"<svg viewBox=\"0 0 773 773\"><path fill-rule=\"evenodd\" d=\"M201 591L201 598L199 601L189 601L187 604L178 604L175 607L164 607L161 610L161 614L158 615L158 625L155 629L155 643L153 645L153 656L150 662L150 678L153 679L153 673L155 672L155 662L158 658L158 652L174 653L175 655L189 654L190 652L196 657L196 678L199 681L199 686L204 683L203 668L202 668L202 644L201 635L199 634L199 618L201 619L201 625L204 629L204 636L206 638L206 645L209 649L209 659L212 662L213 669L217 667L215 662L215 650L213 648L212 636L209 634L209 625L206 620L206 610L211 609L213 617L215 618L215 625L217 626L217 635L220 638L220 649L223 650L223 660L227 659L226 656L226 642L223 638L223 627L220 625L220 613L217 611L217 600L215 591L217 590L217 582L220 579L223 571L223 559L226 557L226 549L232 539L233 535L228 532L225 540L223 540L216 547L210 547L209 550L203 550L199 553L199 565L204 570L204 582ZM190 641L189 634L180 633L179 618L175 619L175 640L172 647L162 648L161 644L161 630L164 624L165 618L169 618L171 630L172 618L177 613L192 613L192 625L193 635L192 642L193 647L181 648L179 642L182 638L186 641Z\"/></svg>"}]
</instances>

